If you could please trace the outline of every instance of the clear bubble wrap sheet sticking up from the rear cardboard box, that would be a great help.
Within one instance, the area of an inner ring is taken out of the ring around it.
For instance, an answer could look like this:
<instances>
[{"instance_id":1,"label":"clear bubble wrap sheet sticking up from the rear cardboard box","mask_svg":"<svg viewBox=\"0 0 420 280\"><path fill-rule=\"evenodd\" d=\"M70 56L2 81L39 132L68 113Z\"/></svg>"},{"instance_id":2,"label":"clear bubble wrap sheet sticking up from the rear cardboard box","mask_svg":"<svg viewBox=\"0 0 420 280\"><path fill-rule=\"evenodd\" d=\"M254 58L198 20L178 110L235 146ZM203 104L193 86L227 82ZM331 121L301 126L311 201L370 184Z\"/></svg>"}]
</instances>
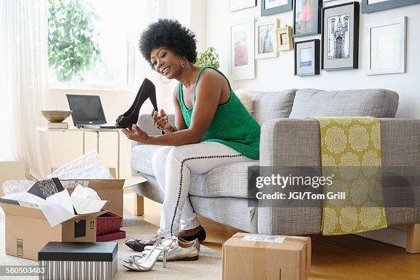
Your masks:
<instances>
[{"instance_id":1,"label":"clear bubble wrap sheet sticking up from the rear cardboard box","mask_svg":"<svg viewBox=\"0 0 420 280\"><path fill-rule=\"evenodd\" d=\"M60 180L67 179L112 179L108 167L100 161L96 150L80 156L53 173L47 175L47 178L57 177Z\"/></svg>"}]
</instances>

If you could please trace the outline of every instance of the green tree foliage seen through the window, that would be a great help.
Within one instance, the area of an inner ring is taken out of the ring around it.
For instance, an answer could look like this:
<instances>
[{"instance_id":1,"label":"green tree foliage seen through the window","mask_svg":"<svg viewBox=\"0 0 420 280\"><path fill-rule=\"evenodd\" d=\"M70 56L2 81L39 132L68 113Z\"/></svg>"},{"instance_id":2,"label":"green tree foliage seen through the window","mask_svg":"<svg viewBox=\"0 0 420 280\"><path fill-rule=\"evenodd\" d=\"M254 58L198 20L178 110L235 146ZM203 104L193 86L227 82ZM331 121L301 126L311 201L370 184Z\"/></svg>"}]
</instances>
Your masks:
<instances>
[{"instance_id":1,"label":"green tree foliage seen through the window","mask_svg":"<svg viewBox=\"0 0 420 280\"><path fill-rule=\"evenodd\" d=\"M93 20L99 17L83 0L49 0L48 62L57 80L78 78L100 60L93 40Z\"/></svg>"}]
</instances>

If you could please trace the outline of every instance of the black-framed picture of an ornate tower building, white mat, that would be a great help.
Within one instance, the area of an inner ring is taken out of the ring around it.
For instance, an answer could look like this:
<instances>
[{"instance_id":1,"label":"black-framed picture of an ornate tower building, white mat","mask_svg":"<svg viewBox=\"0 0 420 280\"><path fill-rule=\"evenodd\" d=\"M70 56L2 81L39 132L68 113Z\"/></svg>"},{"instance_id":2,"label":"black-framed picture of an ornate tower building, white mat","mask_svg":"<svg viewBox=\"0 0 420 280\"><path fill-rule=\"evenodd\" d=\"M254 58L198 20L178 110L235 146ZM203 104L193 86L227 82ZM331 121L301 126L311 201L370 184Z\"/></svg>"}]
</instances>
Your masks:
<instances>
[{"instance_id":1,"label":"black-framed picture of an ornate tower building, white mat","mask_svg":"<svg viewBox=\"0 0 420 280\"><path fill-rule=\"evenodd\" d=\"M359 2L323 8L322 69L358 69Z\"/></svg>"}]
</instances>

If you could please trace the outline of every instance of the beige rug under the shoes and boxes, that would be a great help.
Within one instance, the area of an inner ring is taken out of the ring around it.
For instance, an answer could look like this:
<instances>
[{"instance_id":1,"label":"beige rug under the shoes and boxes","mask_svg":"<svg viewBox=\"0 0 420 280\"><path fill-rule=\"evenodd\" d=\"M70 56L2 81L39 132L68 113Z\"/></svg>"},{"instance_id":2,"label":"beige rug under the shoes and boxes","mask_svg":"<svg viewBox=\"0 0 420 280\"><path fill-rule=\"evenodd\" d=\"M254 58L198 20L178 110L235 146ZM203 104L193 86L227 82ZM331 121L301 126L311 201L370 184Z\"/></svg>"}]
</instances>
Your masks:
<instances>
[{"instance_id":1,"label":"beige rug under the shoes and boxes","mask_svg":"<svg viewBox=\"0 0 420 280\"><path fill-rule=\"evenodd\" d=\"M126 239L148 237L156 233L157 227L145 222L128 211L124 212L124 227ZM4 249L4 218L0 218L0 266L36 266L38 261L21 259L5 255ZM125 239L118 240L118 267L115 279L183 279L183 280L207 280L222 279L222 255L215 250L201 246L198 261L168 261L166 268L158 262L152 271L135 272L127 270L121 265L121 259L134 255L137 252L124 244ZM38 279L38 277L2 277L5 280Z\"/></svg>"}]
</instances>

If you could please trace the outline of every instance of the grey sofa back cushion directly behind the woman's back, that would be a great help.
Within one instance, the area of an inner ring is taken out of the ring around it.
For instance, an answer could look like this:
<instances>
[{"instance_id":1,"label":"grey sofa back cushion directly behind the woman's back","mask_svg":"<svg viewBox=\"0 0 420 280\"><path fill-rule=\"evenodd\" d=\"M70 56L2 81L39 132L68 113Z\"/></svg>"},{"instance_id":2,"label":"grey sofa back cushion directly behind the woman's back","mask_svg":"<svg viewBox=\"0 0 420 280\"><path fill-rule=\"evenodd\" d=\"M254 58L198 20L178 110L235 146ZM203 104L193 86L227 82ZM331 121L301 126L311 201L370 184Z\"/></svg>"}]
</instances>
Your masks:
<instances>
[{"instance_id":1,"label":"grey sofa back cushion directly behind the woman's back","mask_svg":"<svg viewBox=\"0 0 420 280\"><path fill-rule=\"evenodd\" d=\"M296 89L287 91L251 91L253 117L261 125L268 119L289 117Z\"/></svg>"}]
</instances>

